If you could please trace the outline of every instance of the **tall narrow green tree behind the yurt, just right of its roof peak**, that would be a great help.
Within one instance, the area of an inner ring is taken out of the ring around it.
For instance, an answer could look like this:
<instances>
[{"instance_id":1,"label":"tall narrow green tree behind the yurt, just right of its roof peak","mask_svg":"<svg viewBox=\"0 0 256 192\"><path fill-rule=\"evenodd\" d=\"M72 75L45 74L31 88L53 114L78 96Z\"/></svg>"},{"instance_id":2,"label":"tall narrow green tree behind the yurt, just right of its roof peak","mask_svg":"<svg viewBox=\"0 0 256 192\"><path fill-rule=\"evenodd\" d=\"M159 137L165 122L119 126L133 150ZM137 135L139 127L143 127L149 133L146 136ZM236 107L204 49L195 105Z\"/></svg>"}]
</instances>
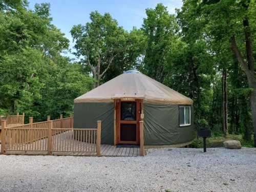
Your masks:
<instances>
[{"instance_id":1,"label":"tall narrow green tree behind the yurt, just right of its roof peak","mask_svg":"<svg viewBox=\"0 0 256 192\"><path fill-rule=\"evenodd\" d=\"M144 65L145 74L163 82L168 73L168 55L172 42L177 38L178 24L175 16L167 8L158 4L155 9L146 9L147 17L143 20L142 31L146 37Z\"/></svg>"}]
</instances>

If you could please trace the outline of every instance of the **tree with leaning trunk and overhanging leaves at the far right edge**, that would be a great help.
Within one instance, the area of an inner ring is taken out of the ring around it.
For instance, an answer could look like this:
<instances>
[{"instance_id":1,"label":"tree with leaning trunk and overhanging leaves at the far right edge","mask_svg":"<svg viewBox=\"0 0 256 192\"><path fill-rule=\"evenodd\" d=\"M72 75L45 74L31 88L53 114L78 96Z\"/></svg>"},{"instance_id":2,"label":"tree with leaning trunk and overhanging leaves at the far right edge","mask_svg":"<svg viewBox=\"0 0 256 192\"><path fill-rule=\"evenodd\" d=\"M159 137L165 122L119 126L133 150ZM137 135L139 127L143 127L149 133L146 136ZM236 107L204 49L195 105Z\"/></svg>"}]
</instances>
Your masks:
<instances>
[{"instance_id":1,"label":"tree with leaning trunk and overhanging leaves at the far right edge","mask_svg":"<svg viewBox=\"0 0 256 192\"><path fill-rule=\"evenodd\" d=\"M208 34L216 40L230 41L230 48L246 74L248 87L251 89L251 119L256 146L256 65L250 28L250 19L253 19L256 13L255 1L204 1L202 13L209 19L207 23L210 24L210 33ZM244 54L246 56L243 56Z\"/></svg>"}]
</instances>

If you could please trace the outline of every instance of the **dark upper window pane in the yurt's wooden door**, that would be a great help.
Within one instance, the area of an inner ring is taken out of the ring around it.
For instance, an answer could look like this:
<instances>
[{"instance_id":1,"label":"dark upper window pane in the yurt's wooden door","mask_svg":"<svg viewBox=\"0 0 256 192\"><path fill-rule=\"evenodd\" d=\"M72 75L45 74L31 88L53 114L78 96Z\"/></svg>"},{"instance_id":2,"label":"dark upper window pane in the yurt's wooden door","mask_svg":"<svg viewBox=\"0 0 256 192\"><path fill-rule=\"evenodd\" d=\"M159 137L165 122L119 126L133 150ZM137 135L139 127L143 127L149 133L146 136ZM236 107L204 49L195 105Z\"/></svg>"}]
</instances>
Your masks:
<instances>
[{"instance_id":1,"label":"dark upper window pane in the yurt's wooden door","mask_svg":"<svg viewBox=\"0 0 256 192\"><path fill-rule=\"evenodd\" d=\"M136 120L136 102L121 102L121 120Z\"/></svg>"}]
</instances>

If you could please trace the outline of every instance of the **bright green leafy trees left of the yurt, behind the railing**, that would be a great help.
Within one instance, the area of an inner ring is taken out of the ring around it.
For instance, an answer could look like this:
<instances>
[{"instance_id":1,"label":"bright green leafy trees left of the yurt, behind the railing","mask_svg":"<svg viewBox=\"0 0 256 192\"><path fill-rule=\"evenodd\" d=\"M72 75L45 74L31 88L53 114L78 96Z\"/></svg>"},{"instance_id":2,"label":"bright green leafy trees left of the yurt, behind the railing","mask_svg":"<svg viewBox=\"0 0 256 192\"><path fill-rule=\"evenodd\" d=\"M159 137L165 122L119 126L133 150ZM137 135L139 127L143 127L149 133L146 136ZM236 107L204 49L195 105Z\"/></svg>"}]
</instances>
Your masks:
<instances>
[{"instance_id":1,"label":"bright green leafy trees left of the yurt, behind the railing","mask_svg":"<svg viewBox=\"0 0 256 192\"><path fill-rule=\"evenodd\" d=\"M49 4L28 10L26 1L0 1L0 113L36 121L73 113L73 99L93 80L60 55L69 40L51 24ZM26 119L27 120L27 119Z\"/></svg>"}]
</instances>

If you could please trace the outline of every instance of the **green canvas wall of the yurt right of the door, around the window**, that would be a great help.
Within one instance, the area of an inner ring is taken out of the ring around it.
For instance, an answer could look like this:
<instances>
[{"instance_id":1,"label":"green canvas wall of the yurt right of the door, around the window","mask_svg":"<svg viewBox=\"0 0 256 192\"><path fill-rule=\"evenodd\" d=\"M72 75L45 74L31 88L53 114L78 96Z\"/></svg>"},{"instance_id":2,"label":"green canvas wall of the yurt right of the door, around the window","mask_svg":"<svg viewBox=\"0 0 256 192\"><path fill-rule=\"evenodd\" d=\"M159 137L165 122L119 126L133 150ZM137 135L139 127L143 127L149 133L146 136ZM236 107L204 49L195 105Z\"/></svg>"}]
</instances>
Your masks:
<instances>
[{"instance_id":1,"label":"green canvas wall of the yurt right of the door, around the window","mask_svg":"<svg viewBox=\"0 0 256 192\"><path fill-rule=\"evenodd\" d=\"M186 143L195 137L194 113L191 125L179 126L179 105L144 103L144 144L170 145Z\"/></svg>"}]
</instances>

